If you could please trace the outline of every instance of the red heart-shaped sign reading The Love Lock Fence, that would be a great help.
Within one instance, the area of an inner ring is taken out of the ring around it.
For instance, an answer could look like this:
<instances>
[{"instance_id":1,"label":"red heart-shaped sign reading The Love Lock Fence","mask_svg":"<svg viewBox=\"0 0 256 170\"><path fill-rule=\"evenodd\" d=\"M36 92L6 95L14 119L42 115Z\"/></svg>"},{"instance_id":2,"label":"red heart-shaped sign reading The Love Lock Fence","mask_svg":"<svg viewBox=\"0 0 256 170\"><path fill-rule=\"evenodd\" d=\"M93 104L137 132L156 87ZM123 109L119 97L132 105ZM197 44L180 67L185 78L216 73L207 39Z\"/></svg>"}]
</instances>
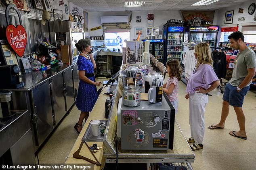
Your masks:
<instances>
[{"instance_id":1,"label":"red heart-shaped sign reading The Love Lock Fence","mask_svg":"<svg viewBox=\"0 0 256 170\"><path fill-rule=\"evenodd\" d=\"M23 56L27 45L27 33L22 25L8 25L6 27L6 37L11 48L20 57Z\"/></svg>"}]
</instances>

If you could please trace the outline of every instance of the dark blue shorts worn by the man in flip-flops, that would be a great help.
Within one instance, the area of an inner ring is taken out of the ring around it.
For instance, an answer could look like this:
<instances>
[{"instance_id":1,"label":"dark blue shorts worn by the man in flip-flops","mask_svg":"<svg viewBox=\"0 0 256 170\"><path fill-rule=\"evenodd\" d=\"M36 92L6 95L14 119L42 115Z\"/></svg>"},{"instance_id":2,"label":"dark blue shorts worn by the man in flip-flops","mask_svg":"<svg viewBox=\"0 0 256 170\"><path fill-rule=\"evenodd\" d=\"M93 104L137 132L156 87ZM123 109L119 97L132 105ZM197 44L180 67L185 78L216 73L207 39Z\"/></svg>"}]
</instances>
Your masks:
<instances>
[{"instance_id":1,"label":"dark blue shorts worn by the man in flip-flops","mask_svg":"<svg viewBox=\"0 0 256 170\"><path fill-rule=\"evenodd\" d=\"M240 92L237 92L237 87L227 83L222 99L229 102L230 106L242 107L243 100L246 93L249 91L250 86L243 87Z\"/></svg>"}]
</instances>

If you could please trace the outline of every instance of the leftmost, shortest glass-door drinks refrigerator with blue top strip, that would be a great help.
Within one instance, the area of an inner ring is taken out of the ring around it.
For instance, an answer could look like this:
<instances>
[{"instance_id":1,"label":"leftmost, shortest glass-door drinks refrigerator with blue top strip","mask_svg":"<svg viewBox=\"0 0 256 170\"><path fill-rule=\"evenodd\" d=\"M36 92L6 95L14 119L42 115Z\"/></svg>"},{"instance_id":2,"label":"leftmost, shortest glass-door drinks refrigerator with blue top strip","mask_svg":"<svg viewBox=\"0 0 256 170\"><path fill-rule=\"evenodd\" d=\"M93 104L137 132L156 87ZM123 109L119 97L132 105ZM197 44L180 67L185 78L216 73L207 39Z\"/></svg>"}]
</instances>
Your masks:
<instances>
[{"instance_id":1,"label":"leftmost, shortest glass-door drinks refrigerator with blue top strip","mask_svg":"<svg viewBox=\"0 0 256 170\"><path fill-rule=\"evenodd\" d=\"M159 62L164 63L164 39L143 39L143 41L149 41L149 53L155 56L155 58L159 60Z\"/></svg>"}]
</instances>

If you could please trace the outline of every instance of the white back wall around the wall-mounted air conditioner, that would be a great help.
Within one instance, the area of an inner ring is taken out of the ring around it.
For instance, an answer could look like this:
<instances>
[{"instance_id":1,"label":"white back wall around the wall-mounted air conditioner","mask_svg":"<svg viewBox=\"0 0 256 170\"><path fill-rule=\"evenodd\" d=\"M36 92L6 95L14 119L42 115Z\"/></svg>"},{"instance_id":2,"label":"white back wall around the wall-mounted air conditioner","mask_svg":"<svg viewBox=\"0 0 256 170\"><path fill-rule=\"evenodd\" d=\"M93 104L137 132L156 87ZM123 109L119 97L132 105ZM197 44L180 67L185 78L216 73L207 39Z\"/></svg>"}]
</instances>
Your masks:
<instances>
[{"instance_id":1,"label":"white back wall around the wall-mounted air conditioner","mask_svg":"<svg viewBox=\"0 0 256 170\"><path fill-rule=\"evenodd\" d=\"M133 38L136 38L134 34L134 27L143 27L144 28L143 34L145 35L147 24L148 24L147 15L152 13L154 14L153 26L159 27L159 34L162 34L162 28L169 19L183 20L180 14L180 11L178 10L132 11L132 22L130 23L130 26L132 28L130 29L130 40L132 40ZM124 12L88 12L88 21L89 21L88 26L89 26L90 36L101 36L103 34L103 28L96 31L90 31L90 28L101 26L101 16L120 16L120 15L130 16L130 12L125 12L125 11ZM136 16L141 16L141 23L136 23ZM143 38L144 37L140 39L143 39Z\"/></svg>"}]
</instances>

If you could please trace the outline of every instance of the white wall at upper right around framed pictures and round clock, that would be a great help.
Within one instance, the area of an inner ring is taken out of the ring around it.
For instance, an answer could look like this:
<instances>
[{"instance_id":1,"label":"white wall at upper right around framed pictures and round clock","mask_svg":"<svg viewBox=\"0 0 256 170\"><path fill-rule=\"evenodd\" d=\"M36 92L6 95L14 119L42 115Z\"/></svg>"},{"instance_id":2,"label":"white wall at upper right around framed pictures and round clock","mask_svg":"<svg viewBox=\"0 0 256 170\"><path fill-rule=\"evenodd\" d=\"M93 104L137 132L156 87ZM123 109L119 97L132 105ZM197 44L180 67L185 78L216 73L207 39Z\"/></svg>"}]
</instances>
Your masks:
<instances>
[{"instance_id":1,"label":"white wall at upper right around framed pictures and round clock","mask_svg":"<svg viewBox=\"0 0 256 170\"><path fill-rule=\"evenodd\" d=\"M242 25L256 25L256 22L253 21L255 13L253 15L248 14L248 7L250 4L253 3L253 1L254 0L250 0L250 1L244 2L243 4L236 4L229 8L222 8L222 9L216 10L215 15L214 15L213 24L220 25L222 27L235 27L235 26L237 26L237 24L239 24L239 31L241 31ZM256 2L254 1L254 3L256 3ZM243 8L242 14L238 12L239 8ZM224 24L225 23L225 13L227 11L231 11L231 10L234 10L233 24ZM240 18L240 17L246 17L246 20L238 21L238 18Z\"/></svg>"}]
</instances>

